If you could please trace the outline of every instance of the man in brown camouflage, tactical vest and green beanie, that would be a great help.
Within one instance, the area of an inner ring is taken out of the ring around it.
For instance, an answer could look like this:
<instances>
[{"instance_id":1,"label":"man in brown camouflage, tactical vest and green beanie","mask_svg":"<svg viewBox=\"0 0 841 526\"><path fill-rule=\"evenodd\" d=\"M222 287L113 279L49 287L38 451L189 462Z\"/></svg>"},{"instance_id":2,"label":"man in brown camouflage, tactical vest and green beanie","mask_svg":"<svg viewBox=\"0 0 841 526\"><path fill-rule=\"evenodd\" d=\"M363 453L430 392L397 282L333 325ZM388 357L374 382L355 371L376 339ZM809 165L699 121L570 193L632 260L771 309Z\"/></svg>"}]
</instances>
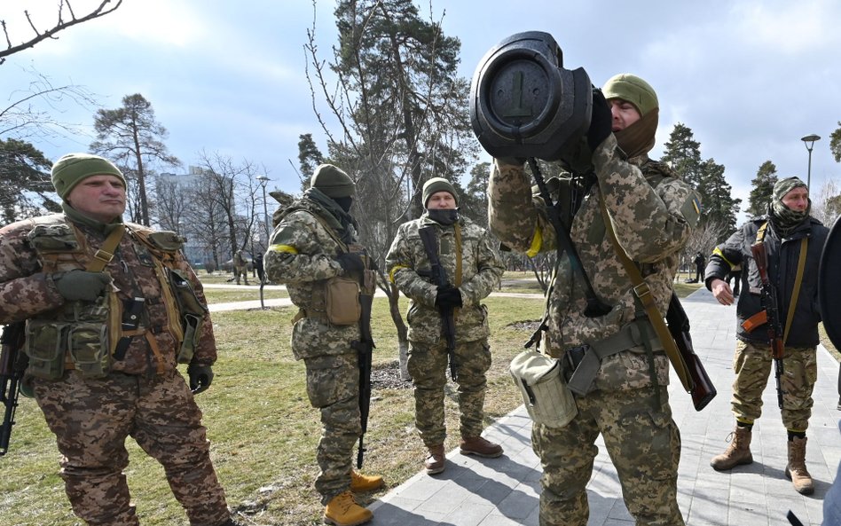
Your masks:
<instances>
[{"instance_id":1,"label":"man in brown camouflage, tactical vest and green beanie","mask_svg":"<svg viewBox=\"0 0 841 526\"><path fill-rule=\"evenodd\" d=\"M0 230L0 324L26 320L27 381L74 513L91 526L139 524L122 473L132 436L164 467L190 524L235 526L190 392L208 389L216 342L183 239L122 222L126 181L102 157L65 155L52 184L63 214ZM204 318L195 339L182 342L163 276L191 289ZM190 364L189 387L177 363Z\"/></svg>"}]
</instances>

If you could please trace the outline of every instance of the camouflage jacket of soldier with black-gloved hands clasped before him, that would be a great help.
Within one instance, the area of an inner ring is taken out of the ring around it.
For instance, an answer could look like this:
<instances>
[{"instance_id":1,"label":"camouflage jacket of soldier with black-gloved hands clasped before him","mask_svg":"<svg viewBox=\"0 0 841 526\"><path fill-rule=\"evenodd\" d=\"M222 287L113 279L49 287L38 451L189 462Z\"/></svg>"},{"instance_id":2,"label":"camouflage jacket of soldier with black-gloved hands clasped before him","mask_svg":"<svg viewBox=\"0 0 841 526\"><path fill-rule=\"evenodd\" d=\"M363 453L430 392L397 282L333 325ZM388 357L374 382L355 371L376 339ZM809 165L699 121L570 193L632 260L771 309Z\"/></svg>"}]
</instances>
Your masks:
<instances>
[{"instance_id":1,"label":"camouflage jacket of soldier with black-gloved hands clasped before him","mask_svg":"<svg viewBox=\"0 0 841 526\"><path fill-rule=\"evenodd\" d=\"M499 279L505 267L494 249L490 232L461 216L461 276L456 275L455 227L437 224L427 214L401 224L386 256L389 277L410 299L406 321L409 341L435 344L444 338L441 314L436 309L437 288L431 282L430 264L418 229L432 225L436 230L438 257L453 287L461 291L463 306L455 313L458 342L474 342L490 334L486 307L480 302ZM421 276L421 274L424 274Z\"/></svg>"}]
</instances>

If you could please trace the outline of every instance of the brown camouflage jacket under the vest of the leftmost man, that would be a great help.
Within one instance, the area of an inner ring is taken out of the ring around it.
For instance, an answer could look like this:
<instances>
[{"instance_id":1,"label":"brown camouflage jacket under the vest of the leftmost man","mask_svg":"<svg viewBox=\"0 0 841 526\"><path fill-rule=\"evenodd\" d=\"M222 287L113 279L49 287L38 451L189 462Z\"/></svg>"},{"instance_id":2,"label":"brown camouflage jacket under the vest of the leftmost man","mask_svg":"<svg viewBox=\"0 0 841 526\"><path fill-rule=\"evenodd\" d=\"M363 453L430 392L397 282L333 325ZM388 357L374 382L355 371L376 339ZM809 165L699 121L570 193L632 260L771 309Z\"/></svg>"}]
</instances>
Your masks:
<instances>
[{"instance_id":1,"label":"brown camouflage jacket under the vest of the leftmost man","mask_svg":"<svg viewBox=\"0 0 841 526\"><path fill-rule=\"evenodd\" d=\"M25 319L49 319L51 313L58 314L66 303L59 294L51 274L43 271L42 262L28 234L35 224L62 225L70 224L64 214L37 217L23 220L0 229L0 323L6 324ZM83 269L92 259L93 254L102 246L106 235L90 225L74 224L76 232L82 236L81 246L86 248L86 256L78 261L62 263L63 270ZM134 336L122 359L114 359L112 370L128 373L154 373L159 366L164 370L175 369L177 351L180 347L166 327L169 320L163 297L162 287L169 287L158 279L153 262L153 255L143 243L135 238L133 232L148 230L139 224L126 224L119 247L114 251L114 259L106 265L105 272L111 276L112 285L119 300L133 297L145 298L141 317L141 328L151 329L154 341L161 352L161 363L154 356L153 349L143 335ZM207 305L201 283L193 269L177 254L177 268L184 271L193 284L200 302ZM209 315L205 319L204 330L196 347L193 363L212 365L216 361L216 339L210 324Z\"/></svg>"}]
</instances>

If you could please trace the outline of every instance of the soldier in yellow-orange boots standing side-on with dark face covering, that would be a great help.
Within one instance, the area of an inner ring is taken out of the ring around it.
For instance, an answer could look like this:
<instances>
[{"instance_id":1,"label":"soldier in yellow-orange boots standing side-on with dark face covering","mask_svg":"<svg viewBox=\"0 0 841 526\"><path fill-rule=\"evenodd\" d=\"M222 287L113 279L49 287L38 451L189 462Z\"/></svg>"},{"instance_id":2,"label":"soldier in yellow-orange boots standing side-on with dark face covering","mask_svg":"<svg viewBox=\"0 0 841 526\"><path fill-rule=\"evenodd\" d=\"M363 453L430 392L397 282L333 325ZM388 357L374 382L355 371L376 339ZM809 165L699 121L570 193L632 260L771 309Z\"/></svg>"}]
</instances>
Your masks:
<instances>
[{"instance_id":1,"label":"soldier in yellow-orange boots standing side-on with dark face covering","mask_svg":"<svg viewBox=\"0 0 841 526\"><path fill-rule=\"evenodd\" d=\"M321 439L315 482L326 522L361 524L373 517L352 492L373 491L382 477L361 475L351 468L353 446L362 432L359 412L359 369L352 342L360 339L357 322L337 323L326 295L337 278L359 280L370 268L357 245L356 222L350 216L355 184L331 164L318 166L303 198L275 216L263 264L266 277L285 283L298 307L293 322L292 352L307 368L307 395L321 412ZM358 292L344 298L358 302ZM345 309L349 310L349 309Z\"/></svg>"}]
</instances>

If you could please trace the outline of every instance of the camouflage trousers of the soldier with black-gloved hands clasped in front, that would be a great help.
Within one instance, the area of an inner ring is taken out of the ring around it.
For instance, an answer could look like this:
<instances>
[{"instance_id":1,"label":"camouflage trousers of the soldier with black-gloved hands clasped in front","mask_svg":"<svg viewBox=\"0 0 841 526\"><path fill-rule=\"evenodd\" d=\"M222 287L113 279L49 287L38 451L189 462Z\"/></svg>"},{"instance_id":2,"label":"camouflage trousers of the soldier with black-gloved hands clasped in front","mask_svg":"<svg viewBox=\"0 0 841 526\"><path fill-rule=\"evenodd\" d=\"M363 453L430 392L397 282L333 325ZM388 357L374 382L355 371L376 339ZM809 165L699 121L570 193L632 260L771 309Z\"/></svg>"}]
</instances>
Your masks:
<instances>
[{"instance_id":1,"label":"camouflage trousers of the soldier with black-gloved hands clasped in front","mask_svg":"<svg viewBox=\"0 0 841 526\"><path fill-rule=\"evenodd\" d=\"M457 343L456 383L459 385L461 436L482 434L485 373L491 368L491 349L486 340ZM410 342L408 369L414 386L415 425L427 447L444 444L444 387L447 384L446 342L422 346Z\"/></svg>"}]
</instances>

